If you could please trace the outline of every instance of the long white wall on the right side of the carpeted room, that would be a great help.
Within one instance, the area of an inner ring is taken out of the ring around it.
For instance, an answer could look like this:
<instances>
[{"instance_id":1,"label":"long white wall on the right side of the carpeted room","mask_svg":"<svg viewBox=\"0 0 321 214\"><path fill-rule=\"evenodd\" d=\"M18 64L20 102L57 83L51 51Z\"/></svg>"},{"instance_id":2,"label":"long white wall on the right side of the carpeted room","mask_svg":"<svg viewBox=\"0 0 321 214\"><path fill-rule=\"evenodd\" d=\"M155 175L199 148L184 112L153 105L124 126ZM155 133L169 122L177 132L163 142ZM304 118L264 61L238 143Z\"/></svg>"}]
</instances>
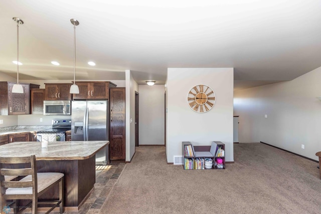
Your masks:
<instances>
[{"instance_id":1,"label":"long white wall on the right side of the carpeted room","mask_svg":"<svg viewBox=\"0 0 321 214\"><path fill-rule=\"evenodd\" d=\"M318 160L321 101L316 97L321 96L320 80L321 67L292 81L235 91L239 142L262 141Z\"/></svg>"}]
</instances>

